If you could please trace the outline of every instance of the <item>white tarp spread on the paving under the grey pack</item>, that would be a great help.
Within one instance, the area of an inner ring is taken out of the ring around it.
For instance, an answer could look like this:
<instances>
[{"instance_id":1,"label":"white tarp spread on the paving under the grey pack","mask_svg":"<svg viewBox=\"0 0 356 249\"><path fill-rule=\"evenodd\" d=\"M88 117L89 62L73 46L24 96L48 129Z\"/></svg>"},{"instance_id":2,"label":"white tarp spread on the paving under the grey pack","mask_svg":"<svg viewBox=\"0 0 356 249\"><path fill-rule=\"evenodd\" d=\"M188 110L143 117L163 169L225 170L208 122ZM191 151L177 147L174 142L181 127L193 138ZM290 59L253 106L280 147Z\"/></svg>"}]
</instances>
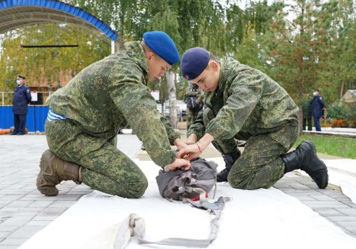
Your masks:
<instances>
[{"instance_id":1,"label":"white tarp spread on the paving under the grey pack","mask_svg":"<svg viewBox=\"0 0 356 249\"><path fill-rule=\"evenodd\" d=\"M149 179L149 188L142 198L107 197L93 192L20 248L113 248L118 224L130 213L144 218L145 239L205 239L211 215L182 202L168 202L162 198L155 183L159 168L152 161L136 162ZM229 196L232 200L223 210L218 237L209 248L356 247L354 237L278 189L248 191L220 183L217 193L217 196ZM139 245L131 238L127 248L171 247Z\"/></svg>"}]
</instances>

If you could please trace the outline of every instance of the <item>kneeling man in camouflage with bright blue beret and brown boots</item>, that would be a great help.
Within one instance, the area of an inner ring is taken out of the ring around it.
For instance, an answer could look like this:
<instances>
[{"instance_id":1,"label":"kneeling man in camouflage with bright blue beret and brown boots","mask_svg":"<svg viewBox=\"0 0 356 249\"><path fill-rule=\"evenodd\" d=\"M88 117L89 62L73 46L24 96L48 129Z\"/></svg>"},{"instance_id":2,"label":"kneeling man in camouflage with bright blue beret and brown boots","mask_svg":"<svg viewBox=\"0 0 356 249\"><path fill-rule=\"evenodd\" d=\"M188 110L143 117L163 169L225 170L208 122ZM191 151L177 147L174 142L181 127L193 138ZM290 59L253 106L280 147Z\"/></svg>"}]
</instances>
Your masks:
<instances>
[{"instance_id":1,"label":"kneeling man in camouflage with bright blue beret and brown boots","mask_svg":"<svg viewBox=\"0 0 356 249\"><path fill-rule=\"evenodd\" d=\"M179 53L162 31L143 38L125 43L125 51L88 66L51 95L45 124L50 150L41 157L37 179L42 194L55 196L55 185L72 180L108 194L142 196L147 178L116 148L118 129L126 124L158 166L189 168L189 161L175 159L170 144L180 141L179 133L157 111L147 88L179 61Z\"/></svg>"}]
</instances>

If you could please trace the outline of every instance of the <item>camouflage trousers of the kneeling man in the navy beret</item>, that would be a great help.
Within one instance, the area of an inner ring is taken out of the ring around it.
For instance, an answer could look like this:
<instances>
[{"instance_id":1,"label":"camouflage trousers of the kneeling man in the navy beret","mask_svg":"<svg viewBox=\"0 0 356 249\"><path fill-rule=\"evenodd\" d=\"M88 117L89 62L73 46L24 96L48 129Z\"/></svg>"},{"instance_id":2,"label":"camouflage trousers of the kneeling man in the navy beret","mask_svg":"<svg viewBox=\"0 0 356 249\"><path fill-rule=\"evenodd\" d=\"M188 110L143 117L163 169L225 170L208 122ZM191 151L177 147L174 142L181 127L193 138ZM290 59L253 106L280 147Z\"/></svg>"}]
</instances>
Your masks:
<instances>
[{"instance_id":1,"label":"camouflage trousers of the kneeling man in the navy beret","mask_svg":"<svg viewBox=\"0 0 356 249\"><path fill-rule=\"evenodd\" d=\"M210 109L205 109L205 125L214 118ZM252 135L238 133L237 139L247 143L241 156L233 163L227 180L231 187L237 189L258 189L272 187L284 172L284 155L292 148L298 138L298 124L286 124L277 131ZM216 140L213 145L220 153L231 153L236 150L236 139Z\"/></svg>"}]
</instances>

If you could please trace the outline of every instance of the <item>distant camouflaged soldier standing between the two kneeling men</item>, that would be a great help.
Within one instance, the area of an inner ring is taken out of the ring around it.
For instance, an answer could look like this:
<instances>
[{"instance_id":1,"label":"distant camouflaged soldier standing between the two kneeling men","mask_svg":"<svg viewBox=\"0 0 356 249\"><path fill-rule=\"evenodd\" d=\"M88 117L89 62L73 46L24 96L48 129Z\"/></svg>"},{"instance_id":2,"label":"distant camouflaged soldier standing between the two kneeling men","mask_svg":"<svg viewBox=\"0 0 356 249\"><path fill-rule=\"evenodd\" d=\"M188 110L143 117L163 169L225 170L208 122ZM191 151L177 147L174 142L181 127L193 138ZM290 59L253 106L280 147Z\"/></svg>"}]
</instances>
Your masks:
<instances>
[{"instance_id":1,"label":"distant camouflaged soldier standing between the two kneeling men","mask_svg":"<svg viewBox=\"0 0 356 249\"><path fill-rule=\"evenodd\" d=\"M199 90L198 86L189 84L184 94L184 102L187 103L186 116L187 116L187 129L198 118L199 111L203 108L204 93Z\"/></svg>"}]
</instances>

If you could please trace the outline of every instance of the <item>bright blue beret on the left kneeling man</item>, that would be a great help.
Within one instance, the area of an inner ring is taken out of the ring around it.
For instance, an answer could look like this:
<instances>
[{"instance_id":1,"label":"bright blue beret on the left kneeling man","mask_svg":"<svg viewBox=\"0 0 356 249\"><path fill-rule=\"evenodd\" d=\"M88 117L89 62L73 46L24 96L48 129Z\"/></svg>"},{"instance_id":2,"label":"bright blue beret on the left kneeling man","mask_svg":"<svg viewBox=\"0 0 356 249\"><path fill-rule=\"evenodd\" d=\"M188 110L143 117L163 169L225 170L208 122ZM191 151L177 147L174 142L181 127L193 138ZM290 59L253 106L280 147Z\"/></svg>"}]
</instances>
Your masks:
<instances>
[{"instance_id":1,"label":"bright blue beret on the left kneeling man","mask_svg":"<svg viewBox=\"0 0 356 249\"><path fill-rule=\"evenodd\" d=\"M180 57L175 42L162 31L150 31L143 34L144 43L170 65L179 62Z\"/></svg>"}]
</instances>

